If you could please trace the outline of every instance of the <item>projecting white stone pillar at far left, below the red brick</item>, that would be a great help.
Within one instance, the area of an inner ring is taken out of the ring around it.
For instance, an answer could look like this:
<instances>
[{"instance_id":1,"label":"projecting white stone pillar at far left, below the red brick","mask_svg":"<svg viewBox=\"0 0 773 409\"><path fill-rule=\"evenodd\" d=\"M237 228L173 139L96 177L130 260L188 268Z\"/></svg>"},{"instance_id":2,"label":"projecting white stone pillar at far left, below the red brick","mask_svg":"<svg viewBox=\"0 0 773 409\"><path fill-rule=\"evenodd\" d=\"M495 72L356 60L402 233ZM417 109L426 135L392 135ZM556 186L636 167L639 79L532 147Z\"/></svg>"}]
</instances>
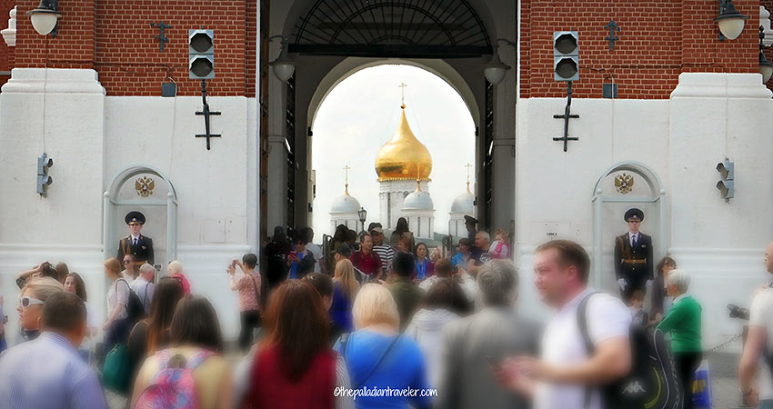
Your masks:
<instances>
[{"instance_id":1,"label":"projecting white stone pillar at far left, below the red brick","mask_svg":"<svg viewBox=\"0 0 773 409\"><path fill-rule=\"evenodd\" d=\"M16 68L3 85L0 292L6 307L18 294L12 274L48 260L77 265L102 314L104 137L105 88L94 70ZM54 160L46 197L35 188L37 158L44 152ZM7 339L13 341L16 314L7 315Z\"/></svg>"}]
</instances>

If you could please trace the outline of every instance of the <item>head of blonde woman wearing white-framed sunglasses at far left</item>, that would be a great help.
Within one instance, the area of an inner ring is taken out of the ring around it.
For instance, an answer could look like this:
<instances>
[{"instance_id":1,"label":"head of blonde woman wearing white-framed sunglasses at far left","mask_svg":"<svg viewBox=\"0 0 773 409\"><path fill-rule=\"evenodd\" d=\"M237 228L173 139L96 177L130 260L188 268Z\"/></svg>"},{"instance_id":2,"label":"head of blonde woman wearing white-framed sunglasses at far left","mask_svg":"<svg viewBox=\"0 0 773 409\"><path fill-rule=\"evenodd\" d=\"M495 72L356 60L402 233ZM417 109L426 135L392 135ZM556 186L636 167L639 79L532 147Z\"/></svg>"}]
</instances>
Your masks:
<instances>
[{"instance_id":1,"label":"head of blonde woman wearing white-framed sunglasses at far left","mask_svg":"<svg viewBox=\"0 0 773 409\"><path fill-rule=\"evenodd\" d=\"M25 284L16 307L25 341L32 341L40 334L40 314L45 300L64 291L62 284L53 277L33 278Z\"/></svg>"}]
</instances>

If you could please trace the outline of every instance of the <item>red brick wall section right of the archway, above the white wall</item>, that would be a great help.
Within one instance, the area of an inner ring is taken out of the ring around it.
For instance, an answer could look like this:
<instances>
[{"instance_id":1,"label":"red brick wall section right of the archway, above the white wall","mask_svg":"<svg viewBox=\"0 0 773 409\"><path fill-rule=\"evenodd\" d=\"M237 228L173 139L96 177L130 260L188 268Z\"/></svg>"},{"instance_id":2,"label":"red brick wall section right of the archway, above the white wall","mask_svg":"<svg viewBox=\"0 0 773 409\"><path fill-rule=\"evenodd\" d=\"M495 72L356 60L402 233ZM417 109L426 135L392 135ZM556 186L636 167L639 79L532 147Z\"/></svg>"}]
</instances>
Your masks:
<instances>
[{"instance_id":1,"label":"red brick wall section right of the archway, above the white wall","mask_svg":"<svg viewBox=\"0 0 773 409\"><path fill-rule=\"evenodd\" d=\"M717 0L521 0L521 96L566 95L553 80L553 32L570 28L579 33L577 97L601 97L614 82L618 98L668 98L682 72L757 73L759 2L734 4L750 18L738 39L719 42ZM610 51L604 25L613 18L621 31Z\"/></svg>"}]
</instances>

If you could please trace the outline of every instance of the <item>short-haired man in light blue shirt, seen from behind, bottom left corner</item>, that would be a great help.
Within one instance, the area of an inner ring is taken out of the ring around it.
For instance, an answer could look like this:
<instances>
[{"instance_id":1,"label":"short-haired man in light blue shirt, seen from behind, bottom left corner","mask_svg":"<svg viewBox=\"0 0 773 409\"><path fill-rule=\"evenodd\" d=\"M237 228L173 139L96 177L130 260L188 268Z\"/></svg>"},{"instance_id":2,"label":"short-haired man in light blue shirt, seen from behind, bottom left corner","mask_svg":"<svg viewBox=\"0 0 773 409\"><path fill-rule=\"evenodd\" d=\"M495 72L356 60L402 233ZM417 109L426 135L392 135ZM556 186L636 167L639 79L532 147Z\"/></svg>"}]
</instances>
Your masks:
<instances>
[{"instance_id":1,"label":"short-haired man in light blue shirt, seen from behind, bottom left corner","mask_svg":"<svg viewBox=\"0 0 773 409\"><path fill-rule=\"evenodd\" d=\"M59 293L43 305L43 333L0 354L0 402L14 409L106 409L93 369L77 353L86 334L85 304Z\"/></svg>"}]
</instances>

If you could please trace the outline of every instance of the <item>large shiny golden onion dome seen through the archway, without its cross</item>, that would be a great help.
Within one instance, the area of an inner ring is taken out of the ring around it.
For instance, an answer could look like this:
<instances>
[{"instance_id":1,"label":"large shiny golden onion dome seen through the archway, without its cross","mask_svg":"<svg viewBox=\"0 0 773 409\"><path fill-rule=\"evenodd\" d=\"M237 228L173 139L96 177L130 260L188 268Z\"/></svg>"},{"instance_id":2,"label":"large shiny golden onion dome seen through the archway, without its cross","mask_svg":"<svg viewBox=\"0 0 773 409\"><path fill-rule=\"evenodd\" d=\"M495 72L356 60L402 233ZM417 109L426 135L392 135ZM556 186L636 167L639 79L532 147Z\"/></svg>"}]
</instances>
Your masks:
<instances>
[{"instance_id":1,"label":"large shiny golden onion dome seen through the archway, without its cross","mask_svg":"<svg viewBox=\"0 0 773 409\"><path fill-rule=\"evenodd\" d=\"M400 107L400 123L395 135L381 146L376 155L378 181L429 180L432 157L427 146L419 142L411 131L406 118L406 105Z\"/></svg>"}]
</instances>

